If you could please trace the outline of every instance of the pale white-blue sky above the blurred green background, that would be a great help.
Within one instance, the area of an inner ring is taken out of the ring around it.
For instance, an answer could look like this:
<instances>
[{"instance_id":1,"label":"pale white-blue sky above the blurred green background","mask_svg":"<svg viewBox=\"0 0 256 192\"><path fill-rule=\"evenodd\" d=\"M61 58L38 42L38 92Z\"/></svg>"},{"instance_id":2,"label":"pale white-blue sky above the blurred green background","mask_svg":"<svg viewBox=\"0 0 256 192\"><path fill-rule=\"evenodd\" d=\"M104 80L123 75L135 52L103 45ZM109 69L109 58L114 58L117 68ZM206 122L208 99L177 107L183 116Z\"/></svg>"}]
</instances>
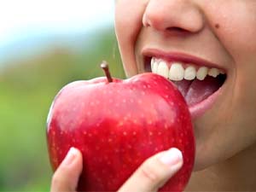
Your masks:
<instances>
[{"instance_id":1,"label":"pale white-blue sky above the blurred green background","mask_svg":"<svg viewBox=\"0 0 256 192\"><path fill-rule=\"evenodd\" d=\"M113 25L113 0L0 0L0 60L41 35L73 35Z\"/></svg>"}]
</instances>

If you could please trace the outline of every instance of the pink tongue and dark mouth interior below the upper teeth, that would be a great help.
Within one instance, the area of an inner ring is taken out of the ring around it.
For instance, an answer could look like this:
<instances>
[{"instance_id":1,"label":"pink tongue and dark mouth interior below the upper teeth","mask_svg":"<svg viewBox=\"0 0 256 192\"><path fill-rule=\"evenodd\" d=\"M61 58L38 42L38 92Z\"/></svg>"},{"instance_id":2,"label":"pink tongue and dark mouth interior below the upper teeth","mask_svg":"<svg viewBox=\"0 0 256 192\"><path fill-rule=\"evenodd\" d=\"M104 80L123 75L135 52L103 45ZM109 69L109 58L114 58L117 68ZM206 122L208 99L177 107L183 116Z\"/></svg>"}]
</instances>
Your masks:
<instances>
[{"instance_id":1,"label":"pink tongue and dark mouth interior below the upper teeth","mask_svg":"<svg viewBox=\"0 0 256 192\"><path fill-rule=\"evenodd\" d=\"M185 97L189 107L207 99L223 84L220 79L209 76L202 81L195 79L193 81L183 80L174 83Z\"/></svg>"}]
</instances>

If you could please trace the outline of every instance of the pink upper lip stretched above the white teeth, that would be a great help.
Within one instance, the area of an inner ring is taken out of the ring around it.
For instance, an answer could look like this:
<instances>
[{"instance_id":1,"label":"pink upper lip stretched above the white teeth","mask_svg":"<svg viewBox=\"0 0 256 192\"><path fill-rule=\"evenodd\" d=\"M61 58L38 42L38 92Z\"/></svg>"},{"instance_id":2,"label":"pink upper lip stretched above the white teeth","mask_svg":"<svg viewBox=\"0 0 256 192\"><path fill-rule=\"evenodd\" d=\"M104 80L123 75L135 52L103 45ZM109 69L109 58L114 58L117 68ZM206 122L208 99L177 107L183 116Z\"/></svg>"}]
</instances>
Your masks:
<instances>
[{"instance_id":1,"label":"pink upper lip stretched above the white teeth","mask_svg":"<svg viewBox=\"0 0 256 192\"><path fill-rule=\"evenodd\" d=\"M202 59L195 55L189 55L183 52L176 52L176 51L167 52L165 50L160 50L160 49L143 49L142 55L144 59L148 57L156 57L156 58L164 59L166 61L181 61L184 63L195 64L201 67L212 67L212 68L215 67L215 68L226 71L219 64L216 64L211 61L207 61L206 59Z\"/></svg>"}]
</instances>

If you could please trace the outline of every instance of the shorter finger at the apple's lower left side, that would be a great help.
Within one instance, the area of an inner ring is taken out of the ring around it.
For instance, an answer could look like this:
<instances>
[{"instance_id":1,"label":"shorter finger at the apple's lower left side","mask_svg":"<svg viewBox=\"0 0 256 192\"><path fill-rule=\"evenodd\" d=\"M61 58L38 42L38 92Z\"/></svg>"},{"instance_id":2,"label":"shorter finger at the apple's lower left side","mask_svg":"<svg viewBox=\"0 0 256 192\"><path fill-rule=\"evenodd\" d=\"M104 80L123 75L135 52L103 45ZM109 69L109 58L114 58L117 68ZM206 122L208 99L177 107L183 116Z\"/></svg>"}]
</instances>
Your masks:
<instances>
[{"instance_id":1,"label":"shorter finger at the apple's lower left side","mask_svg":"<svg viewBox=\"0 0 256 192\"><path fill-rule=\"evenodd\" d=\"M79 175L82 172L82 154L76 148L70 148L67 156L55 171L51 192L75 191L79 182Z\"/></svg>"}]
</instances>

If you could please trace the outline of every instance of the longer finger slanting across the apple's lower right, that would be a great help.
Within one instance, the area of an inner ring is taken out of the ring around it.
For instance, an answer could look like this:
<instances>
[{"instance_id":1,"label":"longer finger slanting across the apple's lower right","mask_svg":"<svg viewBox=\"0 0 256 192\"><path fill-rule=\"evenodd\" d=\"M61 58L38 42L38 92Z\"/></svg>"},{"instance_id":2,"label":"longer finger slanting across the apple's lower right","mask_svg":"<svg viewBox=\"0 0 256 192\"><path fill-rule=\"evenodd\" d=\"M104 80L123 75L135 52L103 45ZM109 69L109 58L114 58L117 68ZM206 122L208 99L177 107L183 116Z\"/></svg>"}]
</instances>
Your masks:
<instances>
[{"instance_id":1,"label":"longer finger slanting across the apple's lower right","mask_svg":"<svg viewBox=\"0 0 256 192\"><path fill-rule=\"evenodd\" d=\"M153 192L160 189L181 167L183 155L177 148L145 160L119 192Z\"/></svg>"}]
</instances>

